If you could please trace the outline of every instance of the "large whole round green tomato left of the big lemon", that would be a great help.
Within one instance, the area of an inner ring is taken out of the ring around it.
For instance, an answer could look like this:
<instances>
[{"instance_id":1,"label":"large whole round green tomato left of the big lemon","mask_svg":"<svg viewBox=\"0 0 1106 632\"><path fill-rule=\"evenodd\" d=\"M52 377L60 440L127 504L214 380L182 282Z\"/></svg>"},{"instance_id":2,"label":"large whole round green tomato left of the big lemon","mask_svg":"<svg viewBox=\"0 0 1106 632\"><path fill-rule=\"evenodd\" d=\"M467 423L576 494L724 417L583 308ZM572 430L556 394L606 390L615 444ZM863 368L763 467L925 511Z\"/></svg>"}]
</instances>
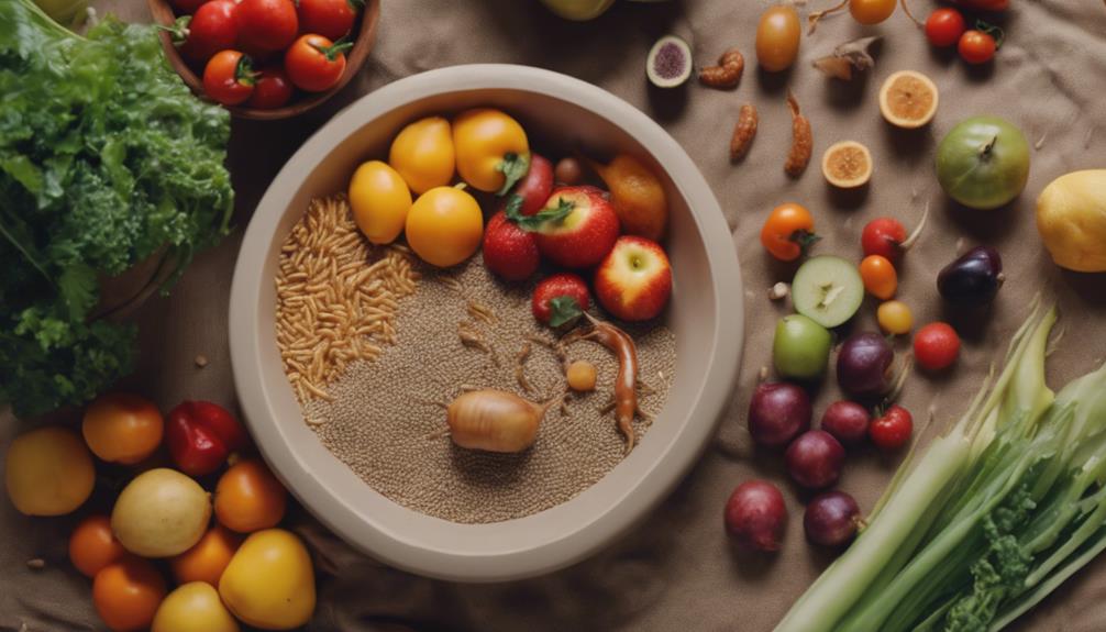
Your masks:
<instances>
[{"instance_id":1,"label":"large whole round green tomato left of the big lemon","mask_svg":"<svg viewBox=\"0 0 1106 632\"><path fill-rule=\"evenodd\" d=\"M1013 124L997 116L960 122L937 148L937 179L961 204L997 209L1022 192L1030 177L1030 146Z\"/></svg>"}]
</instances>

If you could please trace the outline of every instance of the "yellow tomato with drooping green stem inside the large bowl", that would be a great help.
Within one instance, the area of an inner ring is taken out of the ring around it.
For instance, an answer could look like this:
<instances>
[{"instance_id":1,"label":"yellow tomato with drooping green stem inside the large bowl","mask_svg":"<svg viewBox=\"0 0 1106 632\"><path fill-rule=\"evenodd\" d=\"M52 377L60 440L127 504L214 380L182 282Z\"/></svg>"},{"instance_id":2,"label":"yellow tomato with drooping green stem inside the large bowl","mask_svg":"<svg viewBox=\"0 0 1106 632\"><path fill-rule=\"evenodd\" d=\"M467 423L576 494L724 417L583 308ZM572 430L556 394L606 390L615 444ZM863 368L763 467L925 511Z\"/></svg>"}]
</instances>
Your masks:
<instances>
[{"instance_id":1,"label":"yellow tomato with drooping green stem inside the large bowl","mask_svg":"<svg viewBox=\"0 0 1106 632\"><path fill-rule=\"evenodd\" d=\"M487 107L453 120L457 171L473 188L505 193L530 169L526 133L507 114Z\"/></svg>"}]
</instances>

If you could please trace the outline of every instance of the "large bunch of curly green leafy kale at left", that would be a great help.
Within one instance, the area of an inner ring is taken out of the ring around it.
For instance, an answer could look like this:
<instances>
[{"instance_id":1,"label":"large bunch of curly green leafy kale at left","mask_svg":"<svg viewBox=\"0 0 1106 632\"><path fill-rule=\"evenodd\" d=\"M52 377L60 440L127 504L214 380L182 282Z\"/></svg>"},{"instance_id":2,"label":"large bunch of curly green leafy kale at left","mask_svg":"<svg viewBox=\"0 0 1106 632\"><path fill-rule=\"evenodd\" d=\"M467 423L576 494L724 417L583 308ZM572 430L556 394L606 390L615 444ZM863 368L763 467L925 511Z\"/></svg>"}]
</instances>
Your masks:
<instances>
[{"instance_id":1,"label":"large bunch of curly green leafy kale at left","mask_svg":"<svg viewBox=\"0 0 1106 632\"><path fill-rule=\"evenodd\" d=\"M100 282L164 255L175 280L226 234L226 110L196 98L150 25L81 38L0 2L0 403L82 403L133 368Z\"/></svg>"}]
</instances>

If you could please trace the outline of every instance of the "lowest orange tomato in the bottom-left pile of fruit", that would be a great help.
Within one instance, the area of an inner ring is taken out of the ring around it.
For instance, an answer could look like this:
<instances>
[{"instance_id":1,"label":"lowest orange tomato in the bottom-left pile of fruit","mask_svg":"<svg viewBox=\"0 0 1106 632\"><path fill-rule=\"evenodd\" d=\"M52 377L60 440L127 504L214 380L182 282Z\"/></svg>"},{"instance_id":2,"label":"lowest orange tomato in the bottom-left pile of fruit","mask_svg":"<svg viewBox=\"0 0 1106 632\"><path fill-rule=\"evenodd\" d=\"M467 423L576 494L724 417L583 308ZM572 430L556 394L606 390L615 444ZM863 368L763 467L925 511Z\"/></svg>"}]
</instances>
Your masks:
<instances>
[{"instance_id":1,"label":"lowest orange tomato in the bottom-left pile of fruit","mask_svg":"<svg viewBox=\"0 0 1106 632\"><path fill-rule=\"evenodd\" d=\"M92 581L92 602L113 632L146 630L163 599L165 578L139 557L124 556Z\"/></svg>"}]
</instances>

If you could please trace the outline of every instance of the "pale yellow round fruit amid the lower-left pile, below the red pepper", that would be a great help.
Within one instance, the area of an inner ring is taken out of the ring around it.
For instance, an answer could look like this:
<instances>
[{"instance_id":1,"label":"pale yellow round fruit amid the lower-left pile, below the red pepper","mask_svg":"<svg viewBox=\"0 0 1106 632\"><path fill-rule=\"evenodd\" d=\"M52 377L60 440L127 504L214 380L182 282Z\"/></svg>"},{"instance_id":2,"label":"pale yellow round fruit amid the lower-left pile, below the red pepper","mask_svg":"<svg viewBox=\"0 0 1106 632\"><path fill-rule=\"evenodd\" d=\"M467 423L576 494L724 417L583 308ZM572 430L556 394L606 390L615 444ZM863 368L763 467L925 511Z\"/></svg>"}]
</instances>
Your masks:
<instances>
[{"instance_id":1,"label":"pale yellow round fruit amid the lower-left pile, below the red pepper","mask_svg":"<svg viewBox=\"0 0 1106 632\"><path fill-rule=\"evenodd\" d=\"M119 544L147 558L171 557L192 548L210 522L208 493L167 467L135 476L112 508L112 531Z\"/></svg>"}]
</instances>

